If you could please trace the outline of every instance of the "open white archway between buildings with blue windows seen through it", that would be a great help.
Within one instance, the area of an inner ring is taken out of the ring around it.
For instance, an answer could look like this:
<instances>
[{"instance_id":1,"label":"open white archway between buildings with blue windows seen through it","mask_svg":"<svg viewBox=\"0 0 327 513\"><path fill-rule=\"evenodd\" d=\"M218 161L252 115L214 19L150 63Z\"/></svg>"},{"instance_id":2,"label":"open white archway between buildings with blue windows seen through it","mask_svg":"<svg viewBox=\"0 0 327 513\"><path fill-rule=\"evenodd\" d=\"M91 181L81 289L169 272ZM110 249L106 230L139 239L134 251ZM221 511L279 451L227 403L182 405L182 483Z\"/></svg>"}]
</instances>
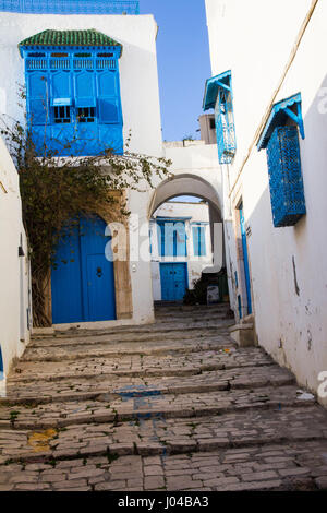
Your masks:
<instances>
[{"instance_id":1,"label":"open white archway between buildings with blue windows seen through it","mask_svg":"<svg viewBox=\"0 0 327 513\"><path fill-rule=\"evenodd\" d=\"M219 196L208 181L191 174L162 181L149 222L155 305L183 301L203 274L208 283L217 278L225 265L223 230Z\"/></svg>"}]
</instances>

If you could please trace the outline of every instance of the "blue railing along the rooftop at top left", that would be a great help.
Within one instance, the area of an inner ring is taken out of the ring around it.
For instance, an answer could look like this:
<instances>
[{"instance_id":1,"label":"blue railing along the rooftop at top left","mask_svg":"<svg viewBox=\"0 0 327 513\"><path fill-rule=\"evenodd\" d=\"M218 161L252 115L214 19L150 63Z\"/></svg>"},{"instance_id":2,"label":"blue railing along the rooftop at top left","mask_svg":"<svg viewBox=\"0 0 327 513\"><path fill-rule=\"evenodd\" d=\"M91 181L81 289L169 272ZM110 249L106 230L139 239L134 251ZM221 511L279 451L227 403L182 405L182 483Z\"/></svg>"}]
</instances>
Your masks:
<instances>
[{"instance_id":1,"label":"blue railing along the rooftop at top left","mask_svg":"<svg viewBox=\"0 0 327 513\"><path fill-rule=\"evenodd\" d=\"M137 0L0 0L0 11L26 14L140 14L140 2Z\"/></svg>"}]
</instances>

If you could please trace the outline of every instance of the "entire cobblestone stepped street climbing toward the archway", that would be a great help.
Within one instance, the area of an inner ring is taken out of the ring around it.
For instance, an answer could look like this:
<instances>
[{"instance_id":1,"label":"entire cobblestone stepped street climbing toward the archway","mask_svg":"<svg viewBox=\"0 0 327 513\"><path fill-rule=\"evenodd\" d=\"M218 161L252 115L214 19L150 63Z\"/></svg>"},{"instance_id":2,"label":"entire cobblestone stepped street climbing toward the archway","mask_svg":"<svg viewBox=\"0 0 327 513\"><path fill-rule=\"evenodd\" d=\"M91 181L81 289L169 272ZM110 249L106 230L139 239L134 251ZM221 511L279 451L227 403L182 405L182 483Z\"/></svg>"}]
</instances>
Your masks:
<instances>
[{"instance_id":1,"label":"entire cobblestone stepped street climbing toward the archway","mask_svg":"<svg viewBox=\"0 0 327 513\"><path fill-rule=\"evenodd\" d=\"M0 490L327 490L327 411L226 306L35 337L0 399Z\"/></svg>"}]
</instances>

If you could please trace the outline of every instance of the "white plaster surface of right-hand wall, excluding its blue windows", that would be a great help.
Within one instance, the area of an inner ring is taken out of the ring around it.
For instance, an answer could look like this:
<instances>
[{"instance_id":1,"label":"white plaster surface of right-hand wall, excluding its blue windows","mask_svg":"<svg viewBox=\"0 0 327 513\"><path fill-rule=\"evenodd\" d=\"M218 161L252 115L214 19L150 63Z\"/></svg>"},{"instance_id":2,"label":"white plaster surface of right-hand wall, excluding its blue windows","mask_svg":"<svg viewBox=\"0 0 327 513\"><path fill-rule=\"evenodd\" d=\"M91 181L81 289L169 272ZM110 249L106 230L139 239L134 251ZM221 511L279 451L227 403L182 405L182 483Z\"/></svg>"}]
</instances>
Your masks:
<instances>
[{"instance_id":1,"label":"white plaster surface of right-hand wall, excluding its blue windows","mask_svg":"<svg viewBox=\"0 0 327 513\"><path fill-rule=\"evenodd\" d=\"M230 220L242 198L251 228L247 243L259 344L289 367L300 384L317 391L318 374L327 370L327 115L319 112L322 87L327 86L324 0L274 99L302 94L305 140L300 146L307 214L294 227L272 227L266 151L258 153L256 146L235 182L311 5L311 0L206 0L213 75L231 69L233 81L238 151L233 165L223 170L225 177L230 174L231 187L235 184L231 203L225 191L232 269L237 269L237 241Z\"/></svg>"}]
</instances>

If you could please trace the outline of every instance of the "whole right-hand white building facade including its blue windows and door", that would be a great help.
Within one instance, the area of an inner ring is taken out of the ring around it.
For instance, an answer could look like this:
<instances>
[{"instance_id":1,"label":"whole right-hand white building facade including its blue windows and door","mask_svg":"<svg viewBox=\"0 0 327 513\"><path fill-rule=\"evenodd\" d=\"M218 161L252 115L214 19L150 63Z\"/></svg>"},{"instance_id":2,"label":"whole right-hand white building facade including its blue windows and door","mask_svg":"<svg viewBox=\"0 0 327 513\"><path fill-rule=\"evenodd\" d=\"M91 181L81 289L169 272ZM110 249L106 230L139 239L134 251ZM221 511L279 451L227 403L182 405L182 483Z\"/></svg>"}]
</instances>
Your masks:
<instances>
[{"instance_id":1,"label":"whole right-hand white building facade including its blue windows and door","mask_svg":"<svg viewBox=\"0 0 327 513\"><path fill-rule=\"evenodd\" d=\"M239 319L252 315L258 343L300 384L319 392L327 3L206 0L206 11L213 79L204 106L216 109L231 306Z\"/></svg>"}]
</instances>

